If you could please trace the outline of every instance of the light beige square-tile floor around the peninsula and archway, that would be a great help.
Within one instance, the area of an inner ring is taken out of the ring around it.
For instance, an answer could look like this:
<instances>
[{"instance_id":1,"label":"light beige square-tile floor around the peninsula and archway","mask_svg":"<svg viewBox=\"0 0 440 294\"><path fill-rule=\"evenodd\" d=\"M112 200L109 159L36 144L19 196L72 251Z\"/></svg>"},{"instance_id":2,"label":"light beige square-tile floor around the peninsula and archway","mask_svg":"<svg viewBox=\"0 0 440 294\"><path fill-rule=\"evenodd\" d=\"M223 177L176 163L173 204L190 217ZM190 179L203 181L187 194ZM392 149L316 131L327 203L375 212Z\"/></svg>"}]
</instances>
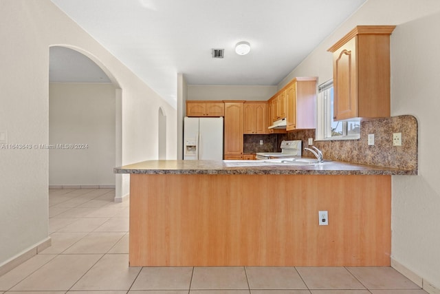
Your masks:
<instances>
[{"instance_id":1,"label":"light beige square-tile floor around the peninsula and archway","mask_svg":"<svg viewBox=\"0 0 440 294\"><path fill-rule=\"evenodd\" d=\"M0 294L426 294L391 267L129 267L129 202L51 189L52 246L0 277Z\"/></svg>"}]
</instances>

